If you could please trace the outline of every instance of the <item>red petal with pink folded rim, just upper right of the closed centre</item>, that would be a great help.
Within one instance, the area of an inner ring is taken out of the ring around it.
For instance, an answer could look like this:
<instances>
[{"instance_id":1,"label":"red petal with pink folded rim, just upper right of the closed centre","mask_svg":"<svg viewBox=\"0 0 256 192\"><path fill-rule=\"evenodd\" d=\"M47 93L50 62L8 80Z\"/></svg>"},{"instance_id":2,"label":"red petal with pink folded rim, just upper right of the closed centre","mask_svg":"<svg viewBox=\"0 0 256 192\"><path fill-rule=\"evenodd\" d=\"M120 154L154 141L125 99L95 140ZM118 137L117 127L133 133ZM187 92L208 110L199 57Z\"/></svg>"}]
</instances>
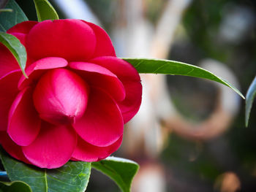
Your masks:
<instances>
[{"instance_id":1,"label":"red petal with pink folded rim, just upper right of the closed centre","mask_svg":"<svg viewBox=\"0 0 256 192\"><path fill-rule=\"evenodd\" d=\"M71 62L69 66L72 69L78 69L80 77L83 77L89 85L104 89L110 93L116 101L122 101L125 98L124 85L115 74L108 69L86 62Z\"/></svg>"}]
</instances>

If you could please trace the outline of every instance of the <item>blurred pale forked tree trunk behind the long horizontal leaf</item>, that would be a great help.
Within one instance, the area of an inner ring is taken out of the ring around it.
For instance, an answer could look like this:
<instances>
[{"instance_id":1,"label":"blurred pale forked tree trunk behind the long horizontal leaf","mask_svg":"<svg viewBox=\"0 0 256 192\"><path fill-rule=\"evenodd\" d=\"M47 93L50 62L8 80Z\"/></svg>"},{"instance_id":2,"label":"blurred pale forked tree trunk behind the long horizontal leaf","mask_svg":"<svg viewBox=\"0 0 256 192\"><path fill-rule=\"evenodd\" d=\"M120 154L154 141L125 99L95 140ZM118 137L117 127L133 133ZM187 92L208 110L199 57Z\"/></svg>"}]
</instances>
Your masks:
<instances>
[{"instance_id":1,"label":"blurred pale forked tree trunk behind the long horizontal leaf","mask_svg":"<svg viewBox=\"0 0 256 192\"><path fill-rule=\"evenodd\" d=\"M143 0L124 0L127 20L120 20L113 37L117 55L125 57L167 58L173 34L184 9L191 0L169 0L157 27L143 16ZM126 25L124 25L126 23ZM170 115L172 103L168 99L165 76L140 74L143 83L143 100L138 114L128 124L124 134L123 151L130 157L139 156L150 162L157 159L167 134L162 130L159 114ZM162 94L165 92L166 94ZM159 107L160 106L160 107ZM134 192L165 192L165 173L159 162L140 164L140 171L132 185Z\"/></svg>"}]
</instances>

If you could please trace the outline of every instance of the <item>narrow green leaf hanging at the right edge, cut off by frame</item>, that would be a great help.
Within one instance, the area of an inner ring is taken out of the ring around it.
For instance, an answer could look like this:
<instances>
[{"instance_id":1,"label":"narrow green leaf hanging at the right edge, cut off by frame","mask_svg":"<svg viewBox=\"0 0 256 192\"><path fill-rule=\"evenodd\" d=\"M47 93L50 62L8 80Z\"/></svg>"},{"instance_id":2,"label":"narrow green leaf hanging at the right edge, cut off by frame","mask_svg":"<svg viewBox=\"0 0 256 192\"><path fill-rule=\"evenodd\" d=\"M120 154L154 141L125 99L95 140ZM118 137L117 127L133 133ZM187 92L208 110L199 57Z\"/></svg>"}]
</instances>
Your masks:
<instances>
[{"instance_id":1,"label":"narrow green leaf hanging at the right edge, cut off by frame","mask_svg":"<svg viewBox=\"0 0 256 192\"><path fill-rule=\"evenodd\" d=\"M252 109L252 103L255 99L256 95L256 77L252 81L252 84L249 86L249 89L246 93L246 100L245 100L245 126L248 126L249 122L249 115Z\"/></svg>"}]
</instances>

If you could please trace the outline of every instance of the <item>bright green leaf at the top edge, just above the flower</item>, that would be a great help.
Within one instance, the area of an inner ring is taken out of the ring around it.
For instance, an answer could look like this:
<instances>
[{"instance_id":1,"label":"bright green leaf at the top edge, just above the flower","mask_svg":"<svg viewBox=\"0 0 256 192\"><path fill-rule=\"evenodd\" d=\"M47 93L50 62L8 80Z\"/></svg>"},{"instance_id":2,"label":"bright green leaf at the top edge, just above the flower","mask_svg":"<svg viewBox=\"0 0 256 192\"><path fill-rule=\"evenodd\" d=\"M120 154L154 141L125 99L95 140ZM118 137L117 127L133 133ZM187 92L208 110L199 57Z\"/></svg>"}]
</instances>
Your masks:
<instances>
[{"instance_id":1,"label":"bright green leaf at the top edge, just above the flower","mask_svg":"<svg viewBox=\"0 0 256 192\"><path fill-rule=\"evenodd\" d=\"M34 0L34 6L37 10L37 20L56 20L59 16L53 6L47 0Z\"/></svg>"}]
</instances>

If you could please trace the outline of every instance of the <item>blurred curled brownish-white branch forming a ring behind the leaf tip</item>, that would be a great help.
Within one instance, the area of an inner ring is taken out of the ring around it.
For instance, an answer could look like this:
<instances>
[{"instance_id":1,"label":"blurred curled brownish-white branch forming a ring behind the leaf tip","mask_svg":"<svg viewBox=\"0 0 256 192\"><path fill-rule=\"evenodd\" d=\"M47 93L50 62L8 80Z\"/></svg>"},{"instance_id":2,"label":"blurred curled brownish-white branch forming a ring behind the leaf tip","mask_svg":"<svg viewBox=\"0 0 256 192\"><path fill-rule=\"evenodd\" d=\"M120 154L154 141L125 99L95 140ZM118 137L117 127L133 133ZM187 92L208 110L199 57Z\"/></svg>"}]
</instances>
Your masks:
<instances>
[{"instance_id":1,"label":"blurred curled brownish-white branch forming a ring behind the leaf tip","mask_svg":"<svg viewBox=\"0 0 256 192\"><path fill-rule=\"evenodd\" d=\"M240 87L236 75L225 64L213 59L205 59L200 62L200 66L219 77L225 77L225 80L236 88ZM175 131L176 134L187 139L207 140L218 137L229 128L239 110L241 98L225 85L213 81L208 82L214 84L219 93L211 115L199 123L190 123L177 112L164 120L170 131Z\"/></svg>"}]
</instances>

